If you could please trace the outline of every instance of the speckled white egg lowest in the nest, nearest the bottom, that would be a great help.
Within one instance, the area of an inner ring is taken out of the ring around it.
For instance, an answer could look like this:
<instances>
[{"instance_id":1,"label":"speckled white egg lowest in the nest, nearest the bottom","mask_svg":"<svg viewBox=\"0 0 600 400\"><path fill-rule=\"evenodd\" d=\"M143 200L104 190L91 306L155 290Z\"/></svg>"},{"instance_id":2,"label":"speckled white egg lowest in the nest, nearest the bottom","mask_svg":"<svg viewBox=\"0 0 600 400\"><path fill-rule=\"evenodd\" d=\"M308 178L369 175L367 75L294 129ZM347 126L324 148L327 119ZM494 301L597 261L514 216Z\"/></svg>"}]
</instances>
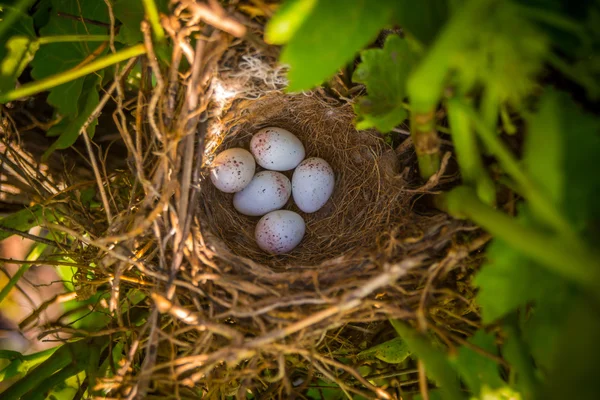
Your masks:
<instances>
[{"instance_id":1,"label":"speckled white egg lowest in the nest, nearest the bottom","mask_svg":"<svg viewBox=\"0 0 600 400\"><path fill-rule=\"evenodd\" d=\"M304 220L288 210L271 211L258 221L254 237L258 247L271 254L292 251L304 237Z\"/></svg>"}]
</instances>

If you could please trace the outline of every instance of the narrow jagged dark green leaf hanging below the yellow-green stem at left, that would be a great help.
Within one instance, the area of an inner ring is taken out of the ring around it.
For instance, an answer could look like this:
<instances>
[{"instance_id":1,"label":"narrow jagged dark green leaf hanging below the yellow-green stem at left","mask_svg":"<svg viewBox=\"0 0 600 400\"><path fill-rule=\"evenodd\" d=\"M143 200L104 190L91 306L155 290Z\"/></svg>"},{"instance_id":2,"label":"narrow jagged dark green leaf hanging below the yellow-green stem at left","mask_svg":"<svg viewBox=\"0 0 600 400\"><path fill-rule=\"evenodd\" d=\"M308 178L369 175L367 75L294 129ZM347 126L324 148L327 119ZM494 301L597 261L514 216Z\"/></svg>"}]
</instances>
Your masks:
<instances>
[{"instance_id":1,"label":"narrow jagged dark green leaf hanging below the yellow-green stem at left","mask_svg":"<svg viewBox=\"0 0 600 400\"><path fill-rule=\"evenodd\" d=\"M102 74L103 72L100 72L97 75L88 75L83 78L82 95L77 102L79 113L74 118L64 118L50 128L47 133L48 136L58 136L58 139L44 152L43 159L49 157L55 150L66 149L75 143L79 137L81 127L100 103L98 85L102 81ZM97 119L88 126L87 134L90 137L94 136L96 125L98 125Z\"/></svg>"}]
</instances>

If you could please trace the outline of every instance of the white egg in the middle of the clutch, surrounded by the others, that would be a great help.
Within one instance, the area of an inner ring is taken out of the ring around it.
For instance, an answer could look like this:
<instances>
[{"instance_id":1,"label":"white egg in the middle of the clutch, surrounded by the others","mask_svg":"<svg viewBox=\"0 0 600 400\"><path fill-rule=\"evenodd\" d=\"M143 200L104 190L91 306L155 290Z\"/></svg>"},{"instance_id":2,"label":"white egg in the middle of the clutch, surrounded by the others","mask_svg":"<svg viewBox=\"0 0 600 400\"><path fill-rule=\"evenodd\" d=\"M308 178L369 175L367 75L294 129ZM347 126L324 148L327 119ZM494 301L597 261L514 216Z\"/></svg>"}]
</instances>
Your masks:
<instances>
[{"instance_id":1,"label":"white egg in the middle of the clutch, surrounded by the others","mask_svg":"<svg viewBox=\"0 0 600 400\"><path fill-rule=\"evenodd\" d=\"M233 206L244 215L258 216L279 210L292 194L292 184L280 172L262 171L233 196Z\"/></svg>"}]
</instances>

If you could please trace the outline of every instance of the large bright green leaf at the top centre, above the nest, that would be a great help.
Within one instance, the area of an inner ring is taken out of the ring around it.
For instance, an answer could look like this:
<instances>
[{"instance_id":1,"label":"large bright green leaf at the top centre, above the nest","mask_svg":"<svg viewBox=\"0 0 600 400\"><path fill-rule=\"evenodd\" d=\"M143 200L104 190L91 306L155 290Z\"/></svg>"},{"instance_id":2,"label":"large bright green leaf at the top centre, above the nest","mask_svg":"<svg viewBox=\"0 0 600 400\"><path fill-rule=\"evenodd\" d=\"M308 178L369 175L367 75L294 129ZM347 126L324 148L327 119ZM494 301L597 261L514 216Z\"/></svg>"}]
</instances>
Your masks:
<instances>
[{"instance_id":1,"label":"large bright green leaf at the top centre, above the nest","mask_svg":"<svg viewBox=\"0 0 600 400\"><path fill-rule=\"evenodd\" d=\"M352 61L390 22L394 3L319 0L281 53L291 68L288 90L311 89Z\"/></svg>"}]
</instances>

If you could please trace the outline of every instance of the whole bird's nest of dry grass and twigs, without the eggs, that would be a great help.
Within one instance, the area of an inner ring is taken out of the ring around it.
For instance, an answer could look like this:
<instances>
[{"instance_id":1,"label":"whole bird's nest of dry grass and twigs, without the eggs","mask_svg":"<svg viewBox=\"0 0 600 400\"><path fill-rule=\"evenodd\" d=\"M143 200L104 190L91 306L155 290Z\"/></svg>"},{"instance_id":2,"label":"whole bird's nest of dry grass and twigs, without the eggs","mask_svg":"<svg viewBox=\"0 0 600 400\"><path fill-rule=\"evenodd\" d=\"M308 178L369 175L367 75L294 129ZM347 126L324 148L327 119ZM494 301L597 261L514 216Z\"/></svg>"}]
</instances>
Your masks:
<instances>
[{"instance_id":1,"label":"whole bird's nest of dry grass and twigs, without the eggs","mask_svg":"<svg viewBox=\"0 0 600 400\"><path fill-rule=\"evenodd\" d=\"M185 27L167 29L175 43L198 29L179 11L163 21ZM94 170L104 211L86 211L61 197L64 189L45 193L63 199L58 211L65 216L47 228L70 235L78 263L97 265L80 270L79 295L110 293L104 306L113 320L94 335L110 338L111 349L119 343L123 360L96 389L113 398L268 399L302 398L317 379L367 398L416 388L410 362L358 354L394 336L389 318L415 321L448 347L463 343L478 327L467 280L478 262L473 252L487 238L434 209L416 212L418 199L444 181L443 171L425 184L416 180L412 152L357 131L347 101L320 90L285 95L274 57L219 31L203 33L195 49L175 50L174 60L186 50L189 73L177 74L175 62L161 69L147 41L142 82L154 73L159 84L142 83L139 95L115 92L130 168ZM137 118L123 107L135 98ZM238 214L206 179L213 154L247 147L267 125L297 134L307 154L336 173L331 200L305 215L307 235L285 256L261 252L256 220ZM145 299L132 303L132 290ZM135 323L132 313L139 314ZM406 379L376 387L375 378L357 372L365 364L370 375Z\"/></svg>"}]
</instances>

